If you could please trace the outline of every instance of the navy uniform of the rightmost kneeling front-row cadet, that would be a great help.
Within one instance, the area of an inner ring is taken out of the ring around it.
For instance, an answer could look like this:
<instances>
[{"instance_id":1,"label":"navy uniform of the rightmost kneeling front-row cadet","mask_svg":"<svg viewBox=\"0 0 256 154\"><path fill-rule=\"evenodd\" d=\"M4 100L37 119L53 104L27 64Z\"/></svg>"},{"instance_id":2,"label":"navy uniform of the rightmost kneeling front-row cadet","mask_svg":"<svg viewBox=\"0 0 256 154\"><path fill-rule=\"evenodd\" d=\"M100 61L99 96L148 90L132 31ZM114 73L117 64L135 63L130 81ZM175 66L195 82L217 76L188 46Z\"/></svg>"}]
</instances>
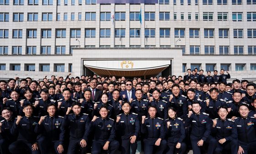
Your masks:
<instances>
[{"instance_id":1,"label":"navy uniform of the rightmost kneeling front-row cadet","mask_svg":"<svg viewBox=\"0 0 256 154\"><path fill-rule=\"evenodd\" d=\"M239 117L235 119L239 145L244 149L244 154L256 150L256 119L254 117ZM254 154L254 153L251 153Z\"/></svg>"}]
</instances>

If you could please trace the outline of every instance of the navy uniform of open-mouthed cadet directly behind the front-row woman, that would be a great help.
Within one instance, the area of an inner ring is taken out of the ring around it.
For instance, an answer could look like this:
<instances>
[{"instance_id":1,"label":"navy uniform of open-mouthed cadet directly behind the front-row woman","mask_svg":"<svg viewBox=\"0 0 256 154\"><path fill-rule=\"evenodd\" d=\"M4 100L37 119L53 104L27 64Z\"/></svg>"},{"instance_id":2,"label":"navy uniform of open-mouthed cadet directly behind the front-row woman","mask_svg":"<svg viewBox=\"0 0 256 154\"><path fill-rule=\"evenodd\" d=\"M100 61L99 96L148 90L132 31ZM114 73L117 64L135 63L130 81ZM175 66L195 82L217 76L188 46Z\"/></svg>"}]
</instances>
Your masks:
<instances>
[{"instance_id":1,"label":"navy uniform of open-mouthed cadet directly behind the front-row woman","mask_svg":"<svg viewBox=\"0 0 256 154\"><path fill-rule=\"evenodd\" d=\"M187 97L184 95L178 95L178 97L173 96L171 102L168 105L169 107L174 107L176 109L177 117L181 119L187 116ZM167 119L167 118L166 118Z\"/></svg>"}]
</instances>

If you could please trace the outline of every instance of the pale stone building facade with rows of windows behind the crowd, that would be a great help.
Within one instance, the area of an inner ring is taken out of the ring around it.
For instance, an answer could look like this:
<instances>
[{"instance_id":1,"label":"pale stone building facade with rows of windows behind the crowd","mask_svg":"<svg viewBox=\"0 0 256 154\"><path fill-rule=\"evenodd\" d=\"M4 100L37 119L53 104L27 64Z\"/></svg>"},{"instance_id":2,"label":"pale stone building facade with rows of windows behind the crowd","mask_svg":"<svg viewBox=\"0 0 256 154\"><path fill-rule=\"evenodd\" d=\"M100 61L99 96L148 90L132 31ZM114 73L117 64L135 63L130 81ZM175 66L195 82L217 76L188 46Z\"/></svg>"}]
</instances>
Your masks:
<instances>
[{"instance_id":1,"label":"pale stone building facade with rows of windows behind the crowd","mask_svg":"<svg viewBox=\"0 0 256 154\"><path fill-rule=\"evenodd\" d=\"M156 57L179 59L170 63L170 75L224 69L232 79L256 79L256 0L0 0L2 79L89 75L97 71L88 67L88 54L100 58L97 67L112 51L122 62L145 60L153 50ZM113 67L122 70L119 62Z\"/></svg>"}]
</instances>

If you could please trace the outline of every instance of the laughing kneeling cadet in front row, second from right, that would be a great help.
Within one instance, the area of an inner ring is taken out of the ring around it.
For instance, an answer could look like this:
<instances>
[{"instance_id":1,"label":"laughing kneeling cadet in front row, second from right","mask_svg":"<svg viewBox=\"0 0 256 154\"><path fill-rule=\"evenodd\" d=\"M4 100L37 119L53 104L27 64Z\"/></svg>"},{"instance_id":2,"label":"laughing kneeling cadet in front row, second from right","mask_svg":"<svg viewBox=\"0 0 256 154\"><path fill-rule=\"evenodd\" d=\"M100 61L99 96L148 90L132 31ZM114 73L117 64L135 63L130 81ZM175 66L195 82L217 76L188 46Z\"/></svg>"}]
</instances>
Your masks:
<instances>
[{"instance_id":1,"label":"laughing kneeling cadet in front row, second from right","mask_svg":"<svg viewBox=\"0 0 256 154\"><path fill-rule=\"evenodd\" d=\"M215 139L218 142L214 152L215 154L221 154L223 149L231 150L231 154L237 154L238 151L235 121L227 119L228 113L228 108L221 106L218 110L219 119L213 120L212 133L215 135Z\"/></svg>"}]
</instances>

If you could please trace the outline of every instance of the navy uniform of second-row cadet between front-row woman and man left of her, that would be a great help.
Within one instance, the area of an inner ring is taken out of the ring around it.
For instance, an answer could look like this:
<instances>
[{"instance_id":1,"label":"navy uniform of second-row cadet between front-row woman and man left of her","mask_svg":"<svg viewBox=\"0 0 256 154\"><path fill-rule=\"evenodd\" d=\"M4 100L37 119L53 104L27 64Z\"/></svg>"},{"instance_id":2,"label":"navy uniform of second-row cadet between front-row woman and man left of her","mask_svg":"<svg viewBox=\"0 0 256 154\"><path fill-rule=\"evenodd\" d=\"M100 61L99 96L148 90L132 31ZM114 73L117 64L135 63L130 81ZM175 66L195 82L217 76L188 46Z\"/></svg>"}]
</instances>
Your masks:
<instances>
[{"instance_id":1,"label":"navy uniform of second-row cadet between front-row woman and man left of her","mask_svg":"<svg viewBox=\"0 0 256 154\"><path fill-rule=\"evenodd\" d=\"M156 117L167 119L168 104L166 101L161 99L159 99L158 101L153 100L150 104L156 106L156 109L157 109Z\"/></svg>"}]
</instances>

